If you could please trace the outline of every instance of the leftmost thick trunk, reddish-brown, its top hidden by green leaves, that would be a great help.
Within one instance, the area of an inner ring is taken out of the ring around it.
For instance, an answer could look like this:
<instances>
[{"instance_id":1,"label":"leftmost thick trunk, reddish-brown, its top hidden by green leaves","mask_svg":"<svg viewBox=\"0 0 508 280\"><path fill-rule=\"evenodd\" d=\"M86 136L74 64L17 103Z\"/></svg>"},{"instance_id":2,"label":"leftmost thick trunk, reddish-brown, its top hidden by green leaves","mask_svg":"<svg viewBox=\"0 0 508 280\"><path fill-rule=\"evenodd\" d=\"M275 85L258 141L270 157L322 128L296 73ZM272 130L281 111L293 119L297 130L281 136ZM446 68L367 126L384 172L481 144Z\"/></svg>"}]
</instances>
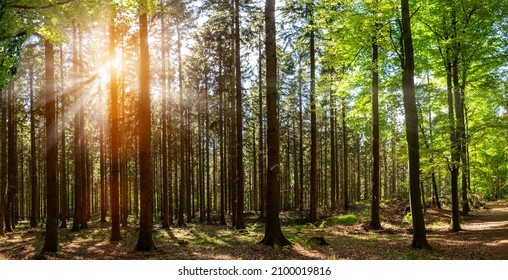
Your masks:
<instances>
[{"instance_id":1,"label":"leftmost thick trunk, reddish-brown, its top hidden by green leaves","mask_svg":"<svg viewBox=\"0 0 508 280\"><path fill-rule=\"evenodd\" d=\"M56 127L56 92L55 60L53 44L44 41L46 68L46 203L47 220L46 236L42 253L58 251L58 185L57 185L57 127Z\"/></svg>"}]
</instances>

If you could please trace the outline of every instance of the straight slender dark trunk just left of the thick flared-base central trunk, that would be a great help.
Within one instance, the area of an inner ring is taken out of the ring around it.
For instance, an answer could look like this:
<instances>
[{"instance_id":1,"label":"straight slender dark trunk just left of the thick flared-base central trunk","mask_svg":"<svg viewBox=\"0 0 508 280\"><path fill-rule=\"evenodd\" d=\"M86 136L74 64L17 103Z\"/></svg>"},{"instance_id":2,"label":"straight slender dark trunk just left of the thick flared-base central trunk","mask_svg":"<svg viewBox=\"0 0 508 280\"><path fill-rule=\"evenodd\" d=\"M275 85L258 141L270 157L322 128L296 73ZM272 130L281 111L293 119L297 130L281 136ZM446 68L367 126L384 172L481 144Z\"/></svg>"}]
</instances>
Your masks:
<instances>
[{"instance_id":1,"label":"straight slender dark trunk just left of the thick flared-base central trunk","mask_svg":"<svg viewBox=\"0 0 508 280\"><path fill-rule=\"evenodd\" d=\"M244 229L243 102L240 64L240 1L235 0L235 89L236 89L236 229Z\"/></svg>"}]
</instances>

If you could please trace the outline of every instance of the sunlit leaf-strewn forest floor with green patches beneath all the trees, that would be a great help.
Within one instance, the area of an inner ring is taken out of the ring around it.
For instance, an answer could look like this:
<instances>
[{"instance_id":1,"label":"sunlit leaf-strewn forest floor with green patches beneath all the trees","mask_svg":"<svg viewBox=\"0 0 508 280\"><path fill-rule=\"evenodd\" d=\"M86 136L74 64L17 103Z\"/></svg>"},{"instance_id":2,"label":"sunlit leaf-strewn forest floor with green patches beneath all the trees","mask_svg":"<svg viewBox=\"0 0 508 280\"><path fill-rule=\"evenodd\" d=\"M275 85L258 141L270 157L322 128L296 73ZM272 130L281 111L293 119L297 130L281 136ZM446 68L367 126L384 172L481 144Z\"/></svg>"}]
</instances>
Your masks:
<instances>
[{"instance_id":1,"label":"sunlit leaf-strewn forest floor with green patches beneath all the trees","mask_svg":"<svg viewBox=\"0 0 508 280\"><path fill-rule=\"evenodd\" d=\"M156 225L157 249L135 252L137 226L122 228L123 240L110 242L110 224L94 220L80 232L61 229L60 251L47 259L459 259L508 260L508 202L487 203L462 217L462 231L449 231L450 211L427 209L427 239L432 250L412 249L410 219L402 203L382 204L383 229L367 230L369 206L356 205L348 213L327 215L317 225L305 224L305 213L281 213L282 230L293 246L275 248L259 244L264 224L246 213L246 231L230 226L188 224L162 230ZM325 213L322 213L325 214ZM325 216L325 215L323 215ZM33 259L44 244L44 229L21 222L15 232L0 238L0 259ZM323 237L329 245L313 242Z\"/></svg>"}]
</instances>

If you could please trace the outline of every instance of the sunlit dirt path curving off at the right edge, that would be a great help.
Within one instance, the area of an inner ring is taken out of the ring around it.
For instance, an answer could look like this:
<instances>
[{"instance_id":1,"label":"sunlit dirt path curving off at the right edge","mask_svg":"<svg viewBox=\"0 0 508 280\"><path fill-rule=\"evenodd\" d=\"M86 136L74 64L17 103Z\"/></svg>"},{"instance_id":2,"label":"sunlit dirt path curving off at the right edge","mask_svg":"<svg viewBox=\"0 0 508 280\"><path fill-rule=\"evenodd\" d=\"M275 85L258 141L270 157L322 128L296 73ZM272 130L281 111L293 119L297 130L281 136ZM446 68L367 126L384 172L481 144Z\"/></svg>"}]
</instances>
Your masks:
<instances>
[{"instance_id":1,"label":"sunlit dirt path curving off at the right edge","mask_svg":"<svg viewBox=\"0 0 508 280\"><path fill-rule=\"evenodd\" d=\"M508 260L508 203L491 202L463 225L466 232L481 236L495 259Z\"/></svg>"}]
</instances>

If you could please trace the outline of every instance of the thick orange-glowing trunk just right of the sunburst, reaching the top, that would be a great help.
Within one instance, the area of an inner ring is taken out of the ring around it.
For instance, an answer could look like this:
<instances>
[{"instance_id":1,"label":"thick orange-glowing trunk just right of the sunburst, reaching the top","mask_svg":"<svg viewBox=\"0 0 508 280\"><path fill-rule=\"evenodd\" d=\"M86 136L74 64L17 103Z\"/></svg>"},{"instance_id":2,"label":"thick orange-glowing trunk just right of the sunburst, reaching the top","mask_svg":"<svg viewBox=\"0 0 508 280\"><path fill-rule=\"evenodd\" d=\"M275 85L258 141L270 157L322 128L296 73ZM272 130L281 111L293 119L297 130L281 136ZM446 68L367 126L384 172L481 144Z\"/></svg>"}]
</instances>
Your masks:
<instances>
[{"instance_id":1,"label":"thick orange-glowing trunk just right of the sunburst, reaching the top","mask_svg":"<svg viewBox=\"0 0 508 280\"><path fill-rule=\"evenodd\" d=\"M148 22L146 0L141 1L141 15L139 16L139 179L141 182L141 212L139 219L139 237L136 244L137 251L150 251L155 248L152 239L152 161L151 140L152 122L150 109L150 56L148 48Z\"/></svg>"}]
</instances>

